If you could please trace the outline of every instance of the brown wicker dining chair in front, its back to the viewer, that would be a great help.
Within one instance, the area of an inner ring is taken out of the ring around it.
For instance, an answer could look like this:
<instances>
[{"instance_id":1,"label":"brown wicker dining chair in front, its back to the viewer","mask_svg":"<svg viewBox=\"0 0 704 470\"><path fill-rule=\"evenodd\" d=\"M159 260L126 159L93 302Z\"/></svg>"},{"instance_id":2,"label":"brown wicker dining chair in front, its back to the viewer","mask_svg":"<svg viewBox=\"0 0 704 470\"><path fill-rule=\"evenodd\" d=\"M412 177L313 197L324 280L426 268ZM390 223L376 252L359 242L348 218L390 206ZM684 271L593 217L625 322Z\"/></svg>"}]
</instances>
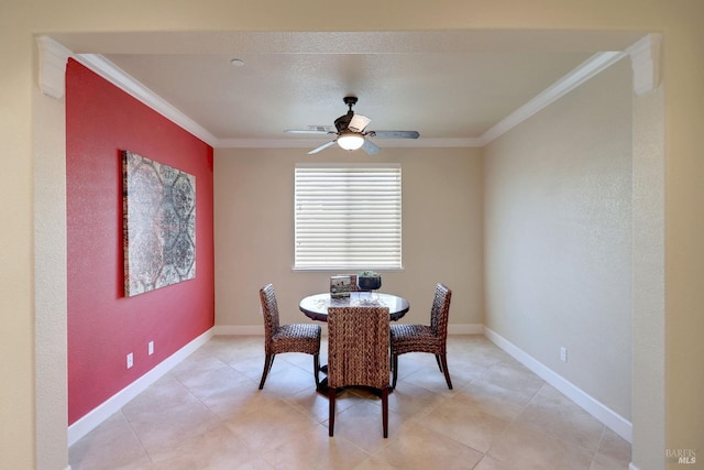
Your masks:
<instances>
[{"instance_id":1,"label":"brown wicker dining chair in front, its back to the viewer","mask_svg":"<svg viewBox=\"0 0 704 470\"><path fill-rule=\"evenodd\" d=\"M334 431L338 389L364 386L382 398L384 437L388 437L388 307L328 308L329 436Z\"/></svg>"}]
</instances>

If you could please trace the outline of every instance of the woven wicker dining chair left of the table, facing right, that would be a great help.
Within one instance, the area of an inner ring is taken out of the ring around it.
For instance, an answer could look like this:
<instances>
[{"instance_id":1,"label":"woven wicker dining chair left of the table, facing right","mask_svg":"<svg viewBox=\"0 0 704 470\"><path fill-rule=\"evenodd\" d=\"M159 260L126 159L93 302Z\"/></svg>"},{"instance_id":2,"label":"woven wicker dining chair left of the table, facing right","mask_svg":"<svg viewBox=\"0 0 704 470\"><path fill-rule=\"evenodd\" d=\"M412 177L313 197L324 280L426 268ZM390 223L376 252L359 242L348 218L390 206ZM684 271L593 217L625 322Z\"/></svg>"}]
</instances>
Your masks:
<instances>
[{"instance_id":1,"label":"woven wicker dining chair left of the table, facing right","mask_svg":"<svg viewBox=\"0 0 704 470\"><path fill-rule=\"evenodd\" d=\"M262 302L262 313L264 314L264 352L266 353L260 390L264 387L266 375L274 363L274 357L282 352L312 354L317 387L320 384L318 379L320 371L320 326L312 324L279 325L276 293L272 284L266 284L260 289L260 300Z\"/></svg>"}]
</instances>

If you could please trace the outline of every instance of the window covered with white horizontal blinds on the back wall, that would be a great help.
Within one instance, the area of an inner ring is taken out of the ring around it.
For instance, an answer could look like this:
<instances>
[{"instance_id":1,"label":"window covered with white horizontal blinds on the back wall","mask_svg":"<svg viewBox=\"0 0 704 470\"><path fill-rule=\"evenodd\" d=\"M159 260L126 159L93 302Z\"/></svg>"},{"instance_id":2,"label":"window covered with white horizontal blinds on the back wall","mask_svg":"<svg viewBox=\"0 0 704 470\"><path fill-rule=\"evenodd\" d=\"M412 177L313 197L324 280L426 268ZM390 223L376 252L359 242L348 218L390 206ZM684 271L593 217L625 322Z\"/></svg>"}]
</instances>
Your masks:
<instances>
[{"instance_id":1,"label":"window covered with white horizontal blinds on the back wall","mask_svg":"<svg viewBox=\"0 0 704 470\"><path fill-rule=\"evenodd\" d=\"M297 165L294 269L400 269L400 165Z\"/></svg>"}]
</instances>

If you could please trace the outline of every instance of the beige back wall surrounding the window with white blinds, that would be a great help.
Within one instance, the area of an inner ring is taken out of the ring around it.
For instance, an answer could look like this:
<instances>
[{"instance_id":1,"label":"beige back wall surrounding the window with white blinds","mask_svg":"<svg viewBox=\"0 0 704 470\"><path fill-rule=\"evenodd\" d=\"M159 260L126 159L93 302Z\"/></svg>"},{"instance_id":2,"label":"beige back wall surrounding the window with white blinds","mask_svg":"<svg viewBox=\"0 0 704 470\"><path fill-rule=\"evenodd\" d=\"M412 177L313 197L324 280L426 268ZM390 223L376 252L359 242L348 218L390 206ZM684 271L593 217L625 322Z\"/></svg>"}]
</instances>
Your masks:
<instances>
[{"instance_id":1,"label":"beige back wall surrounding the window with white blinds","mask_svg":"<svg viewBox=\"0 0 704 470\"><path fill-rule=\"evenodd\" d=\"M383 146L383 142L378 142ZM326 292L338 272L294 272L294 167L302 162L393 162L403 175L400 272L383 291L411 305L403 321L427 323L438 282L453 289L451 328L483 323L482 167L477 149L383 149L371 157L337 147L217 150L216 325L262 328L258 288L272 282L282 320L304 321L298 300Z\"/></svg>"}]
</instances>

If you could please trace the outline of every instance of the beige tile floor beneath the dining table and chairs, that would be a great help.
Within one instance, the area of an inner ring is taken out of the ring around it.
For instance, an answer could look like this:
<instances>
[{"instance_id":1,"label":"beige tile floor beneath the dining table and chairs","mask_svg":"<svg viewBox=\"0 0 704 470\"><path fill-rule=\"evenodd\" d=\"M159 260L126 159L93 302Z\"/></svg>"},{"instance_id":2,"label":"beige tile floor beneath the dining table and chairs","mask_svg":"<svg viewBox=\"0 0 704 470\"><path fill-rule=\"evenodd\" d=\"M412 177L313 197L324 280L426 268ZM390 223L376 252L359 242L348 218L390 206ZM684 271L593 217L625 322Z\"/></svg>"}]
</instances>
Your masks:
<instances>
[{"instance_id":1,"label":"beige tile floor beneath the dining table and chairs","mask_svg":"<svg viewBox=\"0 0 704 470\"><path fill-rule=\"evenodd\" d=\"M389 397L328 400L310 356L279 354L257 390L262 337L218 336L69 449L85 469L627 469L630 445L482 336L399 358ZM321 360L327 343L323 339Z\"/></svg>"}]
</instances>

